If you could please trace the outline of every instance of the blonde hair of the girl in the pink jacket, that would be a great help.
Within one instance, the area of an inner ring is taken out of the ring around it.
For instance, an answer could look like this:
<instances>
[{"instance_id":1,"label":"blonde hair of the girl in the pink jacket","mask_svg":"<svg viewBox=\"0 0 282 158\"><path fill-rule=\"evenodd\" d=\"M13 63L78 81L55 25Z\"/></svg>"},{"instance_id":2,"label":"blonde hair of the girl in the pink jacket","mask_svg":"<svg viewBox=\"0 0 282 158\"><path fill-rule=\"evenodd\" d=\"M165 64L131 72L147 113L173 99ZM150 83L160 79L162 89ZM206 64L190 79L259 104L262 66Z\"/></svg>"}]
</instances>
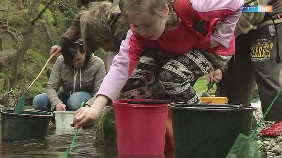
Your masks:
<instances>
[{"instance_id":1,"label":"blonde hair of the girl in the pink jacket","mask_svg":"<svg viewBox=\"0 0 282 158\"><path fill-rule=\"evenodd\" d=\"M173 26L178 22L177 14L173 10L173 3L177 0L120 0L120 10L124 14L124 18L128 20L129 14L141 13L148 10L153 15L164 17L164 5L169 7L169 17L166 26Z\"/></svg>"}]
</instances>

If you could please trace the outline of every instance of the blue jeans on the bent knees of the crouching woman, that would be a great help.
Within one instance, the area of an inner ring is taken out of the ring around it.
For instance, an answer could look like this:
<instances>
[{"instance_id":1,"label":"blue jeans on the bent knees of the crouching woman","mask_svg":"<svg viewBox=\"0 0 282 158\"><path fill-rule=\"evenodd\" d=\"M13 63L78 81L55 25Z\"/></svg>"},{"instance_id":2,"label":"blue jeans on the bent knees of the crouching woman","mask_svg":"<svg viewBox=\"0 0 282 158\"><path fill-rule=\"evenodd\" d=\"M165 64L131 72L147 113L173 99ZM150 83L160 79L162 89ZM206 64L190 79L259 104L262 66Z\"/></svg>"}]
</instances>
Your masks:
<instances>
[{"instance_id":1,"label":"blue jeans on the bent knees of the crouching woman","mask_svg":"<svg viewBox=\"0 0 282 158\"><path fill-rule=\"evenodd\" d=\"M62 92L58 92L58 97L66 105L67 111L76 111L80 108L83 101L91 99L93 96L84 91L75 92L71 96L67 96ZM41 93L34 97L33 107L35 110L42 110L51 112L51 103L47 97L47 93Z\"/></svg>"}]
</instances>

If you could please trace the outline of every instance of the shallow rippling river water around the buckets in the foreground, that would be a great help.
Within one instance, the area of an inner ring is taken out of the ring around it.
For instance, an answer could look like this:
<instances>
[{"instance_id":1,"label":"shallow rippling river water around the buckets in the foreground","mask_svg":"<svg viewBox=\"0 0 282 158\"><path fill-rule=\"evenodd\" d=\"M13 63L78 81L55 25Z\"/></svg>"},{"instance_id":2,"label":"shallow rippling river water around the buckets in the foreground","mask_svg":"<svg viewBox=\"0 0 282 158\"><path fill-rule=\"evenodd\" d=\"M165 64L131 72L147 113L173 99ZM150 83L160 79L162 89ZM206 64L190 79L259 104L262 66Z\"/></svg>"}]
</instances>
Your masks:
<instances>
[{"instance_id":1,"label":"shallow rippling river water around the buckets in the foreground","mask_svg":"<svg viewBox=\"0 0 282 158\"><path fill-rule=\"evenodd\" d=\"M57 158L70 148L74 133L74 129L56 129L51 123L45 140L0 141L0 158ZM80 129L71 158L125 158L118 157L117 147L95 148L94 139L95 129ZM126 158L172 158L172 153L165 155Z\"/></svg>"}]
</instances>

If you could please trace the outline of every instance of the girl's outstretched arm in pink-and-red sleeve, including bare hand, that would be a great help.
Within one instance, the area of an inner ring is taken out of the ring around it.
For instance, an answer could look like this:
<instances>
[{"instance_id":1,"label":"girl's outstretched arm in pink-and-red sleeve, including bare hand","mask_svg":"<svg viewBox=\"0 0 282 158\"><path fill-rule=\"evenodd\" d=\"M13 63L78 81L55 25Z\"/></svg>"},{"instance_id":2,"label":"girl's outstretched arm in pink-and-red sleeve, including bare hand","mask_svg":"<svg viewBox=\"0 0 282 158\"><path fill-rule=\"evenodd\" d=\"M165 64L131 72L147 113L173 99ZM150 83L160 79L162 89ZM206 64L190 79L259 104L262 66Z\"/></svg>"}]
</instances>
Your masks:
<instances>
[{"instance_id":1,"label":"girl's outstretched arm in pink-and-red sleeve, including bare hand","mask_svg":"<svg viewBox=\"0 0 282 158\"><path fill-rule=\"evenodd\" d=\"M110 71L104 78L97 98L90 108L80 108L74 113L74 128L90 125L99 119L104 107L115 101L126 84L144 50L143 44L129 30L122 41L119 53L114 57Z\"/></svg>"}]
</instances>

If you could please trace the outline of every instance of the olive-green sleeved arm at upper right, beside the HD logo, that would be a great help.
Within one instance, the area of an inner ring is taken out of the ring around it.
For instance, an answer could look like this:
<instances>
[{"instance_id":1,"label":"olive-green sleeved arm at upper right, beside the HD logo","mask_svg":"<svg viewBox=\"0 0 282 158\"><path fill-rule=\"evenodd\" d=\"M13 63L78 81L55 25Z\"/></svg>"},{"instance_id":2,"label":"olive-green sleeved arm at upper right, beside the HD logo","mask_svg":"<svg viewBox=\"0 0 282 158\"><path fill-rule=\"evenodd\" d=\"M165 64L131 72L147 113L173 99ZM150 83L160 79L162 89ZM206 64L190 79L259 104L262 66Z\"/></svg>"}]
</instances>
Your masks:
<instances>
[{"instance_id":1,"label":"olive-green sleeved arm at upper right, beside the HD logo","mask_svg":"<svg viewBox=\"0 0 282 158\"><path fill-rule=\"evenodd\" d=\"M267 5L268 0L246 0L245 5ZM235 28L235 38L240 34L247 34L250 30L257 29L265 12L243 12Z\"/></svg>"}]
</instances>

